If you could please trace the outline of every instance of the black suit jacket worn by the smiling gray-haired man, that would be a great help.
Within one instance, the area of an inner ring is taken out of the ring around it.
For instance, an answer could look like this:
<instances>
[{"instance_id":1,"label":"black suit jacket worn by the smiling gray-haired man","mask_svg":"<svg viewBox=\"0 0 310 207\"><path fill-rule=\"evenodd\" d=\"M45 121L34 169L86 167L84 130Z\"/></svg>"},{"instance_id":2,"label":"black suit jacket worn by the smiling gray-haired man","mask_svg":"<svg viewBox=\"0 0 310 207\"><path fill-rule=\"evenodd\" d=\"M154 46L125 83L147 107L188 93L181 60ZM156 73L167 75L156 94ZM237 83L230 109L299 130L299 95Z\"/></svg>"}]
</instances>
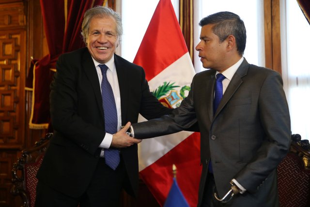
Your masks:
<instances>
[{"instance_id":1,"label":"black suit jacket worn by the smiling gray-haired man","mask_svg":"<svg viewBox=\"0 0 310 207\"><path fill-rule=\"evenodd\" d=\"M139 113L152 119L171 112L150 92L142 67L114 55L118 76L122 125L136 123ZM105 136L104 111L98 75L87 48L63 54L50 85L50 113L54 136L37 177L50 187L72 197L87 188L99 160L99 144ZM138 189L137 144L121 148L130 184Z\"/></svg>"}]
</instances>

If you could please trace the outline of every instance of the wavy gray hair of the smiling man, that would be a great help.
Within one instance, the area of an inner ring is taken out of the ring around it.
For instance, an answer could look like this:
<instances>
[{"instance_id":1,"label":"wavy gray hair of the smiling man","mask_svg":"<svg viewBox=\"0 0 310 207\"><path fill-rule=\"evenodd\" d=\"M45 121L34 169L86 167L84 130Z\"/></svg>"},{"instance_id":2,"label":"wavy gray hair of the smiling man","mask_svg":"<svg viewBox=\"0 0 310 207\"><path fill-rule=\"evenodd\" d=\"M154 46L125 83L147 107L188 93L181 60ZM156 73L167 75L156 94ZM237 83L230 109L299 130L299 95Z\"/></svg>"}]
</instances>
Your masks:
<instances>
[{"instance_id":1,"label":"wavy gray hair of the smiling man","mask_svg":"<svg viewBox=\"0 0 310 207\"><path fill-rule=\"evenodd\" d=\"M96 6L93 7L89 10L87 10L84 14L84 19L82 23L82 36L83 36L83 41L86 43L86 39L89 34L89 24L92 20L93 17L112 17L116 21L116 33L117 33L117 38L120 40L121 35L123 34L123 26L122 26L122 18L119 13L113 11L112 9L104 6Z\"/></svg>"}]
</instances>

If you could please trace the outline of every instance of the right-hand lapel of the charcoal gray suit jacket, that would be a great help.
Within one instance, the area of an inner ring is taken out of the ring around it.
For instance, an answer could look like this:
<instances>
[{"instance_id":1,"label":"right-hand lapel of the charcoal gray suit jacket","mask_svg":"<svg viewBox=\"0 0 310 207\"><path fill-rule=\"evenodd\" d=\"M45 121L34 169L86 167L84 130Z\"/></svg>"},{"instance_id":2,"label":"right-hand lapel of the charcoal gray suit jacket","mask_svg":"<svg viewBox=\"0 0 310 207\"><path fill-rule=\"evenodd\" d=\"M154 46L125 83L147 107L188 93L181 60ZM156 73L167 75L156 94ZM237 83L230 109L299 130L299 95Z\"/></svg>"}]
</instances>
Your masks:
<instances>
[{"instance_id":1,"label":"right-hand lapel of the charcoal gray suit jacket","mask_svg":"<svg viewBox=\"0 0 310 207\"><path fill-rule=\"evenodd\" d=\"M242 84L242 77L247 75L248 73L248 62L246 59L242 62L242 64L239 66L235 74L233 75L233 78L231 82L229 83L222 100L220 101L217 112L214 114L214 118L217 116L217 114L224 108L224 106L227 104L227 102L232 98L233 94L237 91L239 86Z\"/></svg>"}]
</instances>

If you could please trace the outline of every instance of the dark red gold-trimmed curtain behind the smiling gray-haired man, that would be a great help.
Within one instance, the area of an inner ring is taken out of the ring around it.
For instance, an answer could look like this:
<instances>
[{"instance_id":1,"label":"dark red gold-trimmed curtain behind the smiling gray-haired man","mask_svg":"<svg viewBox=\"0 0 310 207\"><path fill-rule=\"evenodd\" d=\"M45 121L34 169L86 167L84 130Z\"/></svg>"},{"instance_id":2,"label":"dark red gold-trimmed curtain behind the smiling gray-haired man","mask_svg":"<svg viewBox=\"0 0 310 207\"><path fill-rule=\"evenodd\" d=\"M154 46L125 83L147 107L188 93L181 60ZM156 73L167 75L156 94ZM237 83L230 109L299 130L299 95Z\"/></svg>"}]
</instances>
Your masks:
<instances>
[{"instance_id":1,"label":"dark red gold-trimmed curtain behind the smiling gray-haired man","mask_svg":"<svg viewBox=\"0 0 310 207\"><path fill-rule=\"evenodd\" d=\"M26 88L32 88L30 128L47 128L49 115L49 84L56 71L55 64L64 52L84 47L80 34L85 11L102 5L104 0L40 0L49 54L31 65ZM65 16L65 11L67 18ZM31 84L32 83L32 84Z\"/></svg>"}]
</instances>

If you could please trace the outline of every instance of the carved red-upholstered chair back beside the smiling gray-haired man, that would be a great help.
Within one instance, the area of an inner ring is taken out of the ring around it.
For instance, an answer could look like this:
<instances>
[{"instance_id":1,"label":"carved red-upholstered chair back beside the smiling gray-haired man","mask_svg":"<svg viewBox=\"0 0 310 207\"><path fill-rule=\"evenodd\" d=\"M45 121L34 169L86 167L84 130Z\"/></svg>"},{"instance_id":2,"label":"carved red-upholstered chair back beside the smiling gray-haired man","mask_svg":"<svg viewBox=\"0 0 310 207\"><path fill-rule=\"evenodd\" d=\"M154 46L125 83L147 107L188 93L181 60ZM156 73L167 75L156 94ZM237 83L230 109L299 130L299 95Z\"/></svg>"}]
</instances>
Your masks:
<instances>
[{"instance_id":1,"label":"carved red-upholstered chair back beside the smiling gray-haired man","mask_svg":"<svg viewBox=\"0 0 310 207\"><path fill-rule=\"evenodd\" d=\"M23 207L34 207L37 171L42 163L52 133L36 142L31 148L24 149L21 158L13 164L13 187L11 194L22 198Z\"/></svg>"}]
</instances>

